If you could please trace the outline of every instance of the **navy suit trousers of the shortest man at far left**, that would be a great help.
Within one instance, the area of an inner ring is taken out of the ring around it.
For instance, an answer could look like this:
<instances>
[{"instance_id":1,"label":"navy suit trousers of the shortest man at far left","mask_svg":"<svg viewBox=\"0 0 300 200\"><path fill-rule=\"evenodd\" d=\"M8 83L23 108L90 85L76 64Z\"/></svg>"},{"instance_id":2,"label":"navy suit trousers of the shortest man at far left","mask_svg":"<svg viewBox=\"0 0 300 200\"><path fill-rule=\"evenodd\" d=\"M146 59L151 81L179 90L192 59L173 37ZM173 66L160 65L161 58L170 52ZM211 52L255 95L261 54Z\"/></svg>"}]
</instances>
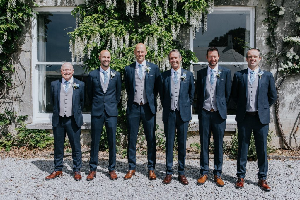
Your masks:
<instances>
[{"instance_id":1,"label":"navy suit trousers of the shortest man at far left","mask_svg":"<svg viewBox=\"0 0 300 200\"><path fill-rule=\"evenodd\" d=\"M80 133L81 127L78 127L74 115L70 117L59 116L58 124L53 127L54 136L54 170L62 171L64 158L64 140L66 133L68 135L73 159L73 172L80 171L82 166Z\"/></svg>"}]
</instances>

